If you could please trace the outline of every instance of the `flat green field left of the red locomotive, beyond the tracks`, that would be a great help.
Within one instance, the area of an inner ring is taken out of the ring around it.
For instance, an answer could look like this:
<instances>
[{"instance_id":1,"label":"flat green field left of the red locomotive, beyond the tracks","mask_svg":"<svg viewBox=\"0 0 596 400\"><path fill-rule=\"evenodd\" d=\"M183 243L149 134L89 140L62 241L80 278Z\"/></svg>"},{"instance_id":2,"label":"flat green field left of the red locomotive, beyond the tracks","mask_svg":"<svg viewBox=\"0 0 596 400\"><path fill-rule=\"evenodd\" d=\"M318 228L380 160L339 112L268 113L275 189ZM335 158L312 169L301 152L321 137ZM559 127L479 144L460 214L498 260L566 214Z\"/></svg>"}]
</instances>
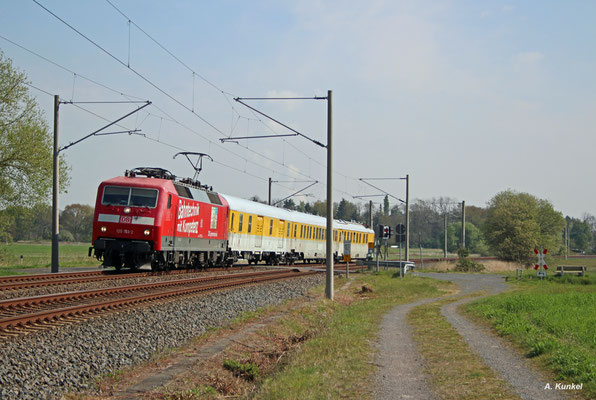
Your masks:
<instances>
[{"instance_id":1,"label":"flat green field left of the red locomotive, beyond the tracks","mask_svg":"<svg viewBox=\"0 0 596 400\"><path fill-rule=\"evenodd\" d=\"M95 258L88 256L89 246L88 243L60 243L60 267L99 266ZM14 274L19 269L50 267L51 255L50 242L1 244L0 275Z\"/></svg>"}]
</instances>

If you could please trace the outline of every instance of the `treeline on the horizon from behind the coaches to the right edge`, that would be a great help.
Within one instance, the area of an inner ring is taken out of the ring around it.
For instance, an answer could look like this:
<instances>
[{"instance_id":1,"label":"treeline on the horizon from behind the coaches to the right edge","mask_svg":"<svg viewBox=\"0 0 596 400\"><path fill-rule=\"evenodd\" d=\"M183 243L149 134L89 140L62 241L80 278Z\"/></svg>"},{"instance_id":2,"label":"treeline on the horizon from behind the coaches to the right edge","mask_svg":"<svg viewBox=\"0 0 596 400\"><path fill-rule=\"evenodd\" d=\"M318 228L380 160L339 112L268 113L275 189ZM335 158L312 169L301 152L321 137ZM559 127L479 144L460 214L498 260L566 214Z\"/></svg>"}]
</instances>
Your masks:
<instances>
[{"instance_id":1,"label":"treeline on the horizon from behind the coaches to the right edge","mask_svg":"<svg viewBox=\"0 0 596 400\"><path fill-rule=\"evenodd\" d=\"M254 201L261 201L253 197ZM314 203L285 200L280 207L314 215L326 215L326 202ZM445 243L447 219L447 250L455 252L461 246L461 202L450 197L414 200L410 204L410 247L439 248ZM346 221L369 225L368 205L342 199L334 203L334 216ZM496 255L505 260L529 262L534 247L562 254L566 247L577 253L596 253L596 217L585 213L582 219L563 217L547 200L528 193L511 190L496 194L485 208L466 205L466 247L472 253ZM382 204L373 206L373 228L379 224L395 229L405 223L405 205L391 206L388 196ZM390 242L395 243L392 239Z\"/></svg>"}]
</instances>

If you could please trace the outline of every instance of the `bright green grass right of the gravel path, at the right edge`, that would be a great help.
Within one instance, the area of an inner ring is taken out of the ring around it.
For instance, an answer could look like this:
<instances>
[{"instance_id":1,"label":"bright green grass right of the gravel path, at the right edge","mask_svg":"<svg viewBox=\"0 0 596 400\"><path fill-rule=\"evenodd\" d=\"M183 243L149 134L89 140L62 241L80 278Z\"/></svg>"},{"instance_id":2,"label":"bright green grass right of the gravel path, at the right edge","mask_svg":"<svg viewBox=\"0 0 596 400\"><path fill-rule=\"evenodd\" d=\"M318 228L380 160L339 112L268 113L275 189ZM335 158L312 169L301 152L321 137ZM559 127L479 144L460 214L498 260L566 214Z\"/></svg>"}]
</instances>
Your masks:
<instances>
[{"instance_id":1,"label":"bright green grass right of the gravel path, at the right edge","mask_svg":"<svg viewBox=\"0 0 596 400\"><path fill-rule=\"evenodd\" d=\"M559 381L583 383L596 398L596 279L549 277L514 282L513 292L466 307L552 370Z\"/></svg>"}]
</instances>

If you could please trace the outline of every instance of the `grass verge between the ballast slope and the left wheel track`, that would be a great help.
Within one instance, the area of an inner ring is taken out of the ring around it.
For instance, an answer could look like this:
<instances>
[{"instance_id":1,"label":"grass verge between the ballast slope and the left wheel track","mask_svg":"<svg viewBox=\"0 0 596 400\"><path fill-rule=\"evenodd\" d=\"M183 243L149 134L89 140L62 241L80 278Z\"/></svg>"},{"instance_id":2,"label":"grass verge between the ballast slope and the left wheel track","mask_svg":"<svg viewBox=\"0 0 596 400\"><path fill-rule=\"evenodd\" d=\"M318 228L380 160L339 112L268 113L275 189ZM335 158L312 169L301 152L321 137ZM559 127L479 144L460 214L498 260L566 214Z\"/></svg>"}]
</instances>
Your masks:
<instances>
[{"instance_id":1,"label":"grass verge between the ballast slope and the left wheel track","mask_svg":"<svg viewBox=\"0 0 596 400\"><path fill-rule=\"evenodd\" d=\"M254 398L370 398L375 371L371 363L373 341L383 315L396 304L440 296L440 288L448 285L425 278L391 276L391 272L358 276L350 290L366 285L373 293L353 301L337 296L336 301L324 302L302 314L301 318L323 326L322 332L304 342L277 374L264 379ZM291 321L286 323L291 325Z\"/></svg>"}]
</instances>

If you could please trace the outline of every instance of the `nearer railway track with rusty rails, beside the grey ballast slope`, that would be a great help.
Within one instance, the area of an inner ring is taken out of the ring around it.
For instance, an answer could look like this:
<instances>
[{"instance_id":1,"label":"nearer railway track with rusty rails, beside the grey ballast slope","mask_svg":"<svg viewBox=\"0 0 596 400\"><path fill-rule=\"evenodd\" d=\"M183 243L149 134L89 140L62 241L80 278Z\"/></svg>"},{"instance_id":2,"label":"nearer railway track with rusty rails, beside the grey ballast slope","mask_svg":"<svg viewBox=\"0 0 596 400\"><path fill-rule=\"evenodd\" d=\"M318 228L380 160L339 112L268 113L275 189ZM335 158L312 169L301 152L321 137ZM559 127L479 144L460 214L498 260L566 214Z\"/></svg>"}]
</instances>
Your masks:
<instances>
[{"instance_id":1,"label":"nearer railway track with rusty rails, beside the grey ballast slope","mask_svg":"<svg viewBox=\"0 0 596 400\"><path fill-rule=\"evenodd\" d=\"M197 293L316 273L296 269L236 273L5 300L0 302L0 338Z\"/></svg>"}]
</instances>

